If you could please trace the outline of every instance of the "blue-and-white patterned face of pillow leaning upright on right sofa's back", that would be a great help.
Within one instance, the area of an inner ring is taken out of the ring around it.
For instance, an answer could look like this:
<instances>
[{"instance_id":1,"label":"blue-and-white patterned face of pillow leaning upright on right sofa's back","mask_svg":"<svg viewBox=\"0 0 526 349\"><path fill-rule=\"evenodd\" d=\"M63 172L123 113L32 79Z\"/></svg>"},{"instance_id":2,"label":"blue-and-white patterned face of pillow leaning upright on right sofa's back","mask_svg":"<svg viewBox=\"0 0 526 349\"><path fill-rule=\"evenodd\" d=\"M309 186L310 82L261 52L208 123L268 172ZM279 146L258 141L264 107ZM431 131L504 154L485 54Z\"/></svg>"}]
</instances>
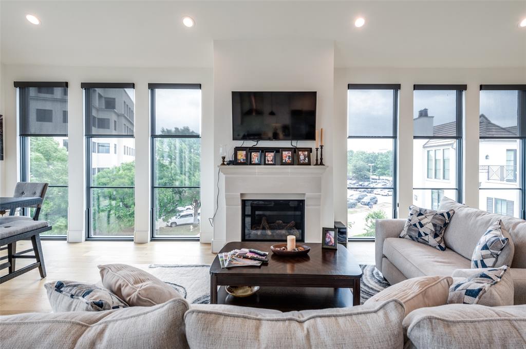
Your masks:
<instances>
[{"instance_id":1,"label":"blue-and-white patterned face of pillow leaning upright on right sofa's back","mask_svg":"<svg viewBox=\"0 0 526 349\"><path fill-rule=\"evenodd\" d=\"M502 221L499 219L493 223L480 237L479 243L471 257L471 268L491 268L497 263L500 252L508 245L501 230Z\"/></svg>"}]
</instances>

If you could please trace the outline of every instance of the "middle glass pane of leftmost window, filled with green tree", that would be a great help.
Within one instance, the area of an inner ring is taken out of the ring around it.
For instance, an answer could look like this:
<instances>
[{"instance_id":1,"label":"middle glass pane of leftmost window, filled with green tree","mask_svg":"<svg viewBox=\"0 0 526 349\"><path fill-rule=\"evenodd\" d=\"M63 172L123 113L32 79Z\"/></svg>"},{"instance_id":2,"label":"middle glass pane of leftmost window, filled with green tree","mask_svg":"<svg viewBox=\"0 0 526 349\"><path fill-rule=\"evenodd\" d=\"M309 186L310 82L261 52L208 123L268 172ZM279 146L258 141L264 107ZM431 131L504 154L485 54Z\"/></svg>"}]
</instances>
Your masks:
<instances>
[{"instance_id":1,"label":"middle glass pane of leftmost window, filled with green tree","mask_svg":"<svg viewBox=\"0 0 526 349\"><path fill-rule=\"evenodd\" d=\"M67 145L65 137L29 137L29 182L67 185Z\"/></svg>"}]
</instances>

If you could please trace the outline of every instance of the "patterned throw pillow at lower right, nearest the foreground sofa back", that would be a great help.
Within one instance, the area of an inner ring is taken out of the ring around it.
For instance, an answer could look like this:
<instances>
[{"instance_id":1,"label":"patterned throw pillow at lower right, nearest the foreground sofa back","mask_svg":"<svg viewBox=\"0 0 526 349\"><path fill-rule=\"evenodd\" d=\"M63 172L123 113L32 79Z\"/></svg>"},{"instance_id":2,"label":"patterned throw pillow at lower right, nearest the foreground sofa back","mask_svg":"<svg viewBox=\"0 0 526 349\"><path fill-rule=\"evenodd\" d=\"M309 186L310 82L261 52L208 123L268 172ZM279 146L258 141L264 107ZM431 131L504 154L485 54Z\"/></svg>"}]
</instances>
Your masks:
<instances>
[{"instance_id":1,"label":"patterned throw pillow at lower right, nearest the foreground sofa back","mask_svg":"<svg viewBox=\"0 0 526 349\"><path fill-rule=\"evenodd\" d=\"M448 304L513 305L513 279L507 270L508 266L477 269L467 279L451 285ZM457 270L453 275L458 275Z\"/></svg>"}]
</instances>

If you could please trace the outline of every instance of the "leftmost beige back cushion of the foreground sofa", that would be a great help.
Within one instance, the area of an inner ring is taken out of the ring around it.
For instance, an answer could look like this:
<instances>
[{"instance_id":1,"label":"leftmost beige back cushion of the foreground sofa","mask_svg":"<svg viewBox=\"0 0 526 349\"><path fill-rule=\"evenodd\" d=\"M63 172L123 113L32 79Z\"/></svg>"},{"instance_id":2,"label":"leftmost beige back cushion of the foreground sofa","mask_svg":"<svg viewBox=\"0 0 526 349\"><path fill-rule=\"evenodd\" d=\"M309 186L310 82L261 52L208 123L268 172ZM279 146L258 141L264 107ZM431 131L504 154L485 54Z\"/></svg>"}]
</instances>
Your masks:
<instances>
[{"instance_id":1,"label":"leftmost beige back cushion of the foreground sofa","mask_svg":"<svg viewBox=\"0 0 526 349\"><path fill-rule=\"evenodd\" d=\"M184 313L173 299L151 307L0 316L2 348L188 348Z\"/></svg>"}]
</instances>

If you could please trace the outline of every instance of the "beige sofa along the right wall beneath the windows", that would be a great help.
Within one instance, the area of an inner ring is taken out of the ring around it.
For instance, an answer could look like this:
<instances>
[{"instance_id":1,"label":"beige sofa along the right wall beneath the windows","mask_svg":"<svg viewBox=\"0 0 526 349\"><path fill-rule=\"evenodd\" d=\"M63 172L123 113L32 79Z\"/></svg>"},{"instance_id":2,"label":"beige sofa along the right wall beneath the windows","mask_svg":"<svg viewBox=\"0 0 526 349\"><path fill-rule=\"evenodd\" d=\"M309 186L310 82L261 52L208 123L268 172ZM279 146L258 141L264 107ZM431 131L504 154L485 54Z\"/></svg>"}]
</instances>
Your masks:
<instances>
[{"instance_id":1,"label":"beige sofa along the right wall beneath the windows","mask_svg":"<svg viewBox=\"0 0 526 349\"><path fill-rule=\"evenodd\" d=\"M491 214L444 197L439 210L447 209L455 213L444 232L445 251L399 238L407 219L376 221L376 267L387 281L395 284L420 276L453 276L457 269L471 268L471 256L480 237L500 218L515 248L510 266L514 304L526 304L526 220Z\"/></svg>"}]
</instances>

